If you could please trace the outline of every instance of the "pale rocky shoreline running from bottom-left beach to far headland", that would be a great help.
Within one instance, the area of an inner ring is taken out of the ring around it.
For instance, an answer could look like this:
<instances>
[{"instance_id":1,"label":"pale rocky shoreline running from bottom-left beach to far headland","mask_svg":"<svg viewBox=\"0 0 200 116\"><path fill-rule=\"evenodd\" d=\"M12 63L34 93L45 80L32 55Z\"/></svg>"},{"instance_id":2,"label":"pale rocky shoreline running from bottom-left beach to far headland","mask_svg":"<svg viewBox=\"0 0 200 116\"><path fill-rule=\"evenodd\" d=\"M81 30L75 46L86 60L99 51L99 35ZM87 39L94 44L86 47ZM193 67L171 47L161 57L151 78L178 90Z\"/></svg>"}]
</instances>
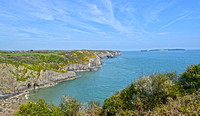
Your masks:
<instances>
[{"instance_id":1,"label":"pale rocky shoreline running from bottom-left beach to far headland","mask_svg":"<svg viewBox=\"0 0 200 116\"><path fill-rule=\"evenodd\" d=\"M113 52L113 51L112 51ZM107 52L109 53L109 52ZM113 52L113 54L109 53L109 54L96 54L97 55L97 59L91 60L91 62L88 64L88 67L84 67L80 64L75 64L73 66L69 66L71 68L69 72L73 72L72 74L68 74L67 73L58 73L58 72L54 72L54 71L41 71L41 75L40 75L40 80L31 80L32 82L40 82L37 83L39 86L37 87L31 87L31 88L26 88L26 89L22 89L20 91L18 91L17 93L14 94L9 94L6 98L0 99L0 115L6 115L9 116L12 113L15 113L21 104L27 103L29 100L27 100L25 98L25 95L27 93L29 93L30 91L34 90L34 89L42 89L42 88L47 88L47 87L52 87L55 86L57 83L60 82L64 82L67 80L74 80L76 79L76 72L81 72L81 71L95 71L97 70L99 67L101 67L103 65L103 62L101 61L101 59L105 59L105 58L116 58L117 56L121 55L121 52L119 51L115 51ZM97 61L96 61L97 60ZM94 65L93 62L98 62L98 64ZM69 68L67 67L67 69ZM75 75L74 75L75 74ZM52 76L53 75L53 76ZM62 75L62 76L60 76ZM65 76L63 76L65 75ZM48 81L47 81L48 80ZM30 82L30 81L27 81ZM27 84L26 82L26 84ZM26 85L25 84L25 85ZM33 85L33 83L32 83ZM11 95L11 96L10 96Z\"/></svg>"}]
</instances>

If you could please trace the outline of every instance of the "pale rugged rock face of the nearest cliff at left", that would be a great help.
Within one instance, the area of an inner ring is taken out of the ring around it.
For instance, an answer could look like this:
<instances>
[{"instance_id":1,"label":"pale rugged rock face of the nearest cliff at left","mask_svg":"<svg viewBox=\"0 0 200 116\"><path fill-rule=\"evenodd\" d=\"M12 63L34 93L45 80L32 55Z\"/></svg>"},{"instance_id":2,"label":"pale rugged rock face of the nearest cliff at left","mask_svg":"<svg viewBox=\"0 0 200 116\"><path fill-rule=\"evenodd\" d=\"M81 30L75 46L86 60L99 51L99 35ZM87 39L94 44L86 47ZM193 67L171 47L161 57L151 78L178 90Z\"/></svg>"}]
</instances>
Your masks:
<instances>
[{"instance_id":1,"label":"pale rugged rock face of the nearest cliff at left","mask_svg":"<svg viewBox=\"0 0 200 116\"><path fill-rule=\"evenodd\" d=\"M57 82L72 80L76 78L76 73L67 71L59 73L51 70L41 70L38 77L37 72L28 70L24 72L24 67L18 68L6 63L0 64L0 98L20 93L28 89L41 88L55 85ZM21 76L29 76L25 81L19 81Z\"/></svg>"}]
</instances>

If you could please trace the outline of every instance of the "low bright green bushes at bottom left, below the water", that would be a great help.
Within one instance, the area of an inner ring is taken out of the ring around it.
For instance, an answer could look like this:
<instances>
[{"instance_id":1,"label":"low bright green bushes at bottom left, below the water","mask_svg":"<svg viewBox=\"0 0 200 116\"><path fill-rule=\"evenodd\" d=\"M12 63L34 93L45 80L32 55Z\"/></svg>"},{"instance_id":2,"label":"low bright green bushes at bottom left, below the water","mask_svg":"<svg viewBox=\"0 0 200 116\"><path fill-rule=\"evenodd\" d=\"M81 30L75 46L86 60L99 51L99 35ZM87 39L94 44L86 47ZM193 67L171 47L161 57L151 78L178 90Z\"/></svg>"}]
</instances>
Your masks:
<instances>
[{"instance_id":1,"label":"low bright green bushes at bottom left, below the water","mask_svg":"<svg viewBox=\"0 0 200 116\"><path fill-rule=\"evenodd\" d=\"M29 102L22 104L20 110L15 116L75 116L81 108L78 100L72 97L63 97L60 105L57 107L53 104L48 104L44 99L39 99L37 102Z\"/></svg>"}]
</instances>

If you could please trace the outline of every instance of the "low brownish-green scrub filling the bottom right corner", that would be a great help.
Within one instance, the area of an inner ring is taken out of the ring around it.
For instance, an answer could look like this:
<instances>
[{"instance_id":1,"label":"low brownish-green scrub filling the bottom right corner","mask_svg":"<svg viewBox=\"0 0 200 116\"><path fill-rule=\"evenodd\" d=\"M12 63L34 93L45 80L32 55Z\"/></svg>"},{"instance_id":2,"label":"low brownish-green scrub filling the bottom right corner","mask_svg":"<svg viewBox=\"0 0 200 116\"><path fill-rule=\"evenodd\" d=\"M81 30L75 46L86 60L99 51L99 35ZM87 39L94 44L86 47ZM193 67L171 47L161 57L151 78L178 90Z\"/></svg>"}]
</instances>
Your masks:
<instances>
[{"instance_id":1,"label":"low brownish-green scrub filling the bottom right corner","mask_svg":"<svg viewBox=\"0 0 200 116\"><path fill-rule=\"evenodd\" d=\"M198 116L200 115L200 91L186 96L178 96L177 99L168 98L167 104L155 108L152 115L181 115Z\"/></svg>"}]
</instances>

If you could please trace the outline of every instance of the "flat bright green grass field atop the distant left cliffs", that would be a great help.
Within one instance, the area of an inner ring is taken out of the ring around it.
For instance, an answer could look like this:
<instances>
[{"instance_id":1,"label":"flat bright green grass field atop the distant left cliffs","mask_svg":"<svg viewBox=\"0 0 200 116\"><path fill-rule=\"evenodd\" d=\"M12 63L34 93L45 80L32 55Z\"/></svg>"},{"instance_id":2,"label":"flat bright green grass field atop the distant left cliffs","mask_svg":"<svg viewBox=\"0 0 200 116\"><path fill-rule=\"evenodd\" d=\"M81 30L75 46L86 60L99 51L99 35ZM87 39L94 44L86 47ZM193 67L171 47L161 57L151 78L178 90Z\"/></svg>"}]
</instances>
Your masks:
<instances>
[{"instance_id":1,"label":"flat bright green grass field atop the distant left cliffs","mask_svg":"<svg viewBox=\"0 0 200 116\"><path fill-rule=\"evenodd\" d=\"M16 56L28 56L28 55L57 55L58 52L52 52L52 53L9 53L4 54L0 53L0 56L8 56L8 55L16 55Z\"/></svg>"}]
</instances>

